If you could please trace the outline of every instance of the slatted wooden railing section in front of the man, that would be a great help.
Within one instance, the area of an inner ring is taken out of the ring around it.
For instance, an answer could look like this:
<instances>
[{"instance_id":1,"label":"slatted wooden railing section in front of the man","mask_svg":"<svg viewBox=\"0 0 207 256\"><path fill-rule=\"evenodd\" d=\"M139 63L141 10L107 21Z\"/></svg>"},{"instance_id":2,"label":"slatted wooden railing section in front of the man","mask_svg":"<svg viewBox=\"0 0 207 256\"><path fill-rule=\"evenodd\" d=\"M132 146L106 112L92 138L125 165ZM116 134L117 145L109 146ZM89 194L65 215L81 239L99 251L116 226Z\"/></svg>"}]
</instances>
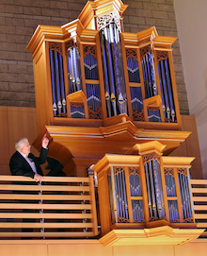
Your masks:
<instances>
[{"instance_id":1,"label":"slatted wooden railing section in front of the man","mask_svg":"<svg viewBox=\"0 0 207 256\"><path fill-rule=\"evenodd\" d=\"M93 179L0 176L0 239L98 234Z\"/></svg>"}]
</instances>

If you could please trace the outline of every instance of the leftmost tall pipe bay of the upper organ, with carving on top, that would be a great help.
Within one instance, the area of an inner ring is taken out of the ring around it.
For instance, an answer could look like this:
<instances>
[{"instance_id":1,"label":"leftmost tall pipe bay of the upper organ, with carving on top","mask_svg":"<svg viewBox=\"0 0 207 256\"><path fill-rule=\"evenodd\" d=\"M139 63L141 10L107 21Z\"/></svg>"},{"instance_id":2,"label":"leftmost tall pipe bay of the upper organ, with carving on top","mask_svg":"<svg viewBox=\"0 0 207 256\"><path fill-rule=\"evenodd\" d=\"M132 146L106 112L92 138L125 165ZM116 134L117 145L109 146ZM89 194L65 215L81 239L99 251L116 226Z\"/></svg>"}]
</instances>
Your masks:
<instances>
[{"instance_id":1,"label":"leftmost tall pipe bay of the upper organ, with carving on top","mask_svg":"<svg viewBox=\"0 0 207 256\"><path fill-rule=\"evenodd\" d=\"M54 116L66 116L66 94L60 43L50 43L50 70Z\"/></svg>"}]
</instances>

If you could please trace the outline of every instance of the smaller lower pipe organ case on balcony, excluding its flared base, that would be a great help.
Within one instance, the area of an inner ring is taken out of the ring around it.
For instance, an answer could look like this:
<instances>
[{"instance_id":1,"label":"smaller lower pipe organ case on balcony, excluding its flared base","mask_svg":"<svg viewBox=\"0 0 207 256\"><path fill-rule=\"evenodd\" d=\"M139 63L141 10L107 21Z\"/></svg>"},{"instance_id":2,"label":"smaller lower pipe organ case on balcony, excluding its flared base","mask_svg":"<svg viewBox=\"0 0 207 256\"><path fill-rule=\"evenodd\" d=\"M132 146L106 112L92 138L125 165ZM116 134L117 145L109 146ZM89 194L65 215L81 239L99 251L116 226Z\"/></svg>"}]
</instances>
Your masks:
<instances>
[{"instance_id":1,"label":"smaller lower pipe organ case on balcony, excluding its flared base","mask_svg":"<svg viewBox=\"0 0 207 256\"><path fill-rule=\"evenodd\" d=\"M135 146L138 155L106 154L93 166L103 234L165 225L194 229L189 180L193 158L162 156L165 145L158 142Z\"/></svg>"}]
</instances>

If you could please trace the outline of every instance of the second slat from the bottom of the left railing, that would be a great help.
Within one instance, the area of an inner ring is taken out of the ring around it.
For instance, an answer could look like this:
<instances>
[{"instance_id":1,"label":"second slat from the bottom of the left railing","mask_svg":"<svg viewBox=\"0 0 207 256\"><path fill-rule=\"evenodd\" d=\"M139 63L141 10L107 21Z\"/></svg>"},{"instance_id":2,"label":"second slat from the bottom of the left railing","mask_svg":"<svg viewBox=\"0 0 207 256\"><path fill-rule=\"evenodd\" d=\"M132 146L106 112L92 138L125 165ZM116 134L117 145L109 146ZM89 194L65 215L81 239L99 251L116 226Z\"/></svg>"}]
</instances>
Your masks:
<instances>
[{"instance_id":1,"label":"second slat from the bottom of the left railing","mask_svg":"<svg viewBox=\"0 0 207 256\"><path fill-rule=\"evenodd\" d=\"M26 229L26 228L32 228L32 229L40 229L40 228L57 228L58 229L85 229L85 228L92 228L92 223L16 223L16 222L7 222L3 223L0 222L0 228L4 229Z\"/></svg>"}]
</instances>

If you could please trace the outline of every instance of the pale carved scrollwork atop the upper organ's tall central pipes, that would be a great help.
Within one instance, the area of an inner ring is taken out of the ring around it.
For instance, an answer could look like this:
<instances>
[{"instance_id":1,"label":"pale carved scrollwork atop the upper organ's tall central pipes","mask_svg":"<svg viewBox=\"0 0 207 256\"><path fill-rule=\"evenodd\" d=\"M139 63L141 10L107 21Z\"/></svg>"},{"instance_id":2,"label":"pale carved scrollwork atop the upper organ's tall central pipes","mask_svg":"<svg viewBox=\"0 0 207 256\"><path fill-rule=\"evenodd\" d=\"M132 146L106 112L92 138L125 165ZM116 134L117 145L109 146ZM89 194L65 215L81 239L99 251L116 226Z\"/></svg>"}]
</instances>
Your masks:
<instances>
[{"instance_id":1,"label":"pale carved scrollwork atop the upper organ's tall central pipes","mask_svg":"<svg viewBox=\"0 0 207 256\"><path fill-rule=\"evenodd\" d=\"M120 20L115 12L111 12L101 17L97 17L97 25L99 30L103 29L105 26L108 26L111 23L115 23L119 29L119 32L121 32Z\"/></svg>"}]
</instances>

